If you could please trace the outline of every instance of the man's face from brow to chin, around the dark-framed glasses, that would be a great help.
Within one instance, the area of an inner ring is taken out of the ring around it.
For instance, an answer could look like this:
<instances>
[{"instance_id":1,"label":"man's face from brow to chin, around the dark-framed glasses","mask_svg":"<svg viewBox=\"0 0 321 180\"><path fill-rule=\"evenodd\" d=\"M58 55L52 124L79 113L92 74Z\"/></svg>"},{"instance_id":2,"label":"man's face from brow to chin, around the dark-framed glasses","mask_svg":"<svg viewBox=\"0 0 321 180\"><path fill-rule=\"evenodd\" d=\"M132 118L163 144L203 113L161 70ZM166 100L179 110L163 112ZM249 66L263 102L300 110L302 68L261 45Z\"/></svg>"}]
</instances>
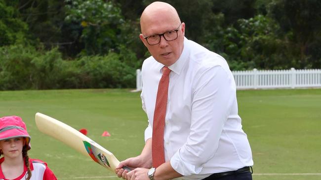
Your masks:
<instances>
[{"instance_id":1,"label":"man's face from brow to chin, around the dark-framed glasses","mask_svg":"<svg viewBox=\"0 0 321 180\"><path fill-rule=\"evenodd\" d=\"M182 23L180 26L179 23L174 21L169 23L146 22L143 27L142 33L144 35L140 34L140 39L143 41L155 60L165 66L170 66L175 63L183 51L185 24ZM177 30L177 28L179 28L177 31L177 39L172 41L166 41L164 37L161 36L161 42L159 44L149 45L144 38L144 36L147 37L154 34L162 34L166 31Z\"/></svg>"}]
</instances>

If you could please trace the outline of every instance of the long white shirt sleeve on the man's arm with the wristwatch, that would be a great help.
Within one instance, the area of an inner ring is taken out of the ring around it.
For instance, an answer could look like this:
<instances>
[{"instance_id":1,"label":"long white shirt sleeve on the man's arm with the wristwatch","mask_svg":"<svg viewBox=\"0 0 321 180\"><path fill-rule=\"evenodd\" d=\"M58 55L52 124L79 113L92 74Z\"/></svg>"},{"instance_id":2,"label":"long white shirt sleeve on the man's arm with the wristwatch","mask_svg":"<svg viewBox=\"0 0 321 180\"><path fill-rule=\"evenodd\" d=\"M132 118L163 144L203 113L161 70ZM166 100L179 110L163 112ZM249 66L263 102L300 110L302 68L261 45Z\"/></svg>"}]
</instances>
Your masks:
<instances>
[{"instance_id":1,"label":"long white shirt sleeve on the man's arm with the wristwatch","mask_svg":"<svg viewBox=\"0 0 321 180\"><path fill-rule=\"evenodd\" d=\"M208 68L198 77L192 94L190 134L170 159L173 169L184 176L199 174L203 165L214 157L236 98L231 78L221 66Z\"/></svg>"}]
</instances>

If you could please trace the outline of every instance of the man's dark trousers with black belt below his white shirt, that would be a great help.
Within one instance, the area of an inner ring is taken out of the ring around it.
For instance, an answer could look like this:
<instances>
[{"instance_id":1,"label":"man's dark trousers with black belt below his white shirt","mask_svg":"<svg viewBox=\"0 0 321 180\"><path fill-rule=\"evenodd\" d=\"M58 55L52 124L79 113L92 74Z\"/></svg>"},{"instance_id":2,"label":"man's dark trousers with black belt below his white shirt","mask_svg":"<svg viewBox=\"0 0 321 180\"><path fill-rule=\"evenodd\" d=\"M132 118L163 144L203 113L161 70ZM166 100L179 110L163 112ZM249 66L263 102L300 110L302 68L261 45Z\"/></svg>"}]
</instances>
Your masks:
<instances>
[{"instance_id":1,"label":"man's dark trousers with black belt below his white shirt","mask_svg":"<svg viewBox=\"0 0 321 180\"><path fill-rule=\"evenodd\" d=\"M243 167L236 171L212 174L203 180L252 180L250 168L251 167Z\"/></svg>"}]
</instances>

